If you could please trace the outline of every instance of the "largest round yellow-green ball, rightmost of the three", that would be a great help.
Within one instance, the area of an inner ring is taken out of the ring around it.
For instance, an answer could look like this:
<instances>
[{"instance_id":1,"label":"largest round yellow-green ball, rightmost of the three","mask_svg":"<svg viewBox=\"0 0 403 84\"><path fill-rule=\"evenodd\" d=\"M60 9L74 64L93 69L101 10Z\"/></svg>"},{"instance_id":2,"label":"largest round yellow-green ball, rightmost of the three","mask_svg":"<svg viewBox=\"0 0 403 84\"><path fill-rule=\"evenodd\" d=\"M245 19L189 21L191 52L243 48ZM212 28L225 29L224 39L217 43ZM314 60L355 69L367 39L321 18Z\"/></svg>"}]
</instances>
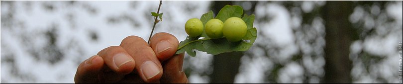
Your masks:
<instances>
[{"instance_id":1,"label":"largest round yellow-green ball, rightmost of the three","mask_svg":"<svg viewBox=\"0 0 403 84\"><path fill-rule=\"evenodd\" d=\"M239 17L230 17L224 22L222 34L231 42L242 40L246 35L246 23Z\"/></svg>"}]
</instances>

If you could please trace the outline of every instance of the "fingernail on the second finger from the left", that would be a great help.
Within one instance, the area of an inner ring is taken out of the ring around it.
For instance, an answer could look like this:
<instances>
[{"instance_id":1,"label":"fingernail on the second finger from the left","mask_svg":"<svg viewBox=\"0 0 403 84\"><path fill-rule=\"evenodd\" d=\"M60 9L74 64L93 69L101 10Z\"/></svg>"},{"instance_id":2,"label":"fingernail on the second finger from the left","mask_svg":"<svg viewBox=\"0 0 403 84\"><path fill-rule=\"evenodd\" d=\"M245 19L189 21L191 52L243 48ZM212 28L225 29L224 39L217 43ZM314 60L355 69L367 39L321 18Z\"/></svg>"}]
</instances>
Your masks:
<instances>
[{"instance_id":1,"label":"fingernail on the second finger from the left","mask_svg":"<svg viewBox=\"0 0 403 84\"><path fill-rule=\"evenodd\" d=\"M120 66L131 62L132 60L129 58L129 56L125 55L125 54L116 54L113 57L113 62L115 63L115 65L117 66L117 69L119 69Z\"/></svg>"}]
</instances>

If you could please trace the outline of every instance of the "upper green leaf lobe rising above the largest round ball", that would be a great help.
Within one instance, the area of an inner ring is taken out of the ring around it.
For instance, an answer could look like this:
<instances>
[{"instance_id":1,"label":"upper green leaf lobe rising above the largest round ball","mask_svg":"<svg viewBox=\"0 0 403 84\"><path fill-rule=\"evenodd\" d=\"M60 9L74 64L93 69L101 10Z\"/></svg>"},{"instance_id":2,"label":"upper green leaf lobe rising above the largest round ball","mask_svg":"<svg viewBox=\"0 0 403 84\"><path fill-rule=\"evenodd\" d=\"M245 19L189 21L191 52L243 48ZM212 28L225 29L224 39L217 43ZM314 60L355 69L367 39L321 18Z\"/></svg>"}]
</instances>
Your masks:
<instances>
[{"instance_id":1,"label":"upper green leaf lobe rising above the largest round ball","mask_svg":"<svg viewBox=\"0 0 403 84\"><path fill-rule=\"evenodd\" d=\"M224 7L221 8L221 10L218 12L218 14L215 18L221 20L222 22L225 22L225 20L227 20L229 17L241 18L242 14L243 14L243 9L241 6L225 5Z\"/></svg>"}]
</instances>

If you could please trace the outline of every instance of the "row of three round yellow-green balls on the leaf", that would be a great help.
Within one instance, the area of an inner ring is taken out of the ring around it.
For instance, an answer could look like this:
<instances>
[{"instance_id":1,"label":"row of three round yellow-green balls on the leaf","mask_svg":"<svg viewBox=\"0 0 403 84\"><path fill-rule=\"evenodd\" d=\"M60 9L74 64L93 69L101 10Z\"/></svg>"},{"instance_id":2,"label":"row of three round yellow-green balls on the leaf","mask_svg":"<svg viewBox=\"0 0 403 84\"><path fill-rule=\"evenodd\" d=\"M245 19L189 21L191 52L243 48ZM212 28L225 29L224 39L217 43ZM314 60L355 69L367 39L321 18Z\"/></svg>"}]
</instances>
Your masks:
<instances>
[{"instance_id":1,"label":"row of three round yellow-green balls on the leaf","mask_svg":"<svg viewBox=\"0 0 403 84\"><path fill-rule=\"evenodd\" d=\"M231 42L242 40L246 35L246 23L239 17L230 17L225 22L210 19L205 26L198 18L191 18L185 24L185 31L191 37L200 36L205 27L205 34L212 39L224 36Z\"/></svg>"}]
</instances>

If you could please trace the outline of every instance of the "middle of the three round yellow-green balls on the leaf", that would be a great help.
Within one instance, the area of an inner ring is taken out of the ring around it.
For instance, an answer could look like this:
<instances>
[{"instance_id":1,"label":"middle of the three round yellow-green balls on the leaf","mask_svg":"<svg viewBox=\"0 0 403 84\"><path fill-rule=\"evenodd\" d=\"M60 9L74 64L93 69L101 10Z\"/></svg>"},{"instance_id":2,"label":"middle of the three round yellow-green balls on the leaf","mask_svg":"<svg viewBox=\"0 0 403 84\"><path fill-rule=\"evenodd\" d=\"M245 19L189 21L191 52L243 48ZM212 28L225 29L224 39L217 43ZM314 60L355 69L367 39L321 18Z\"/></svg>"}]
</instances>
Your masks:
<instances>
[{"instance_id":1,"label":"middle of the three round yellow-green balls on the leaf","mask_svg":"<svg viewBox=\"0 0 403 84\"><path fill-rule=\"evenodd\" d=\"M224 23L222 23L219 19L210 19L205 24L205 34L208 37L217 39L222 37L222 27Z\"/></svg>"}]
</instances>

